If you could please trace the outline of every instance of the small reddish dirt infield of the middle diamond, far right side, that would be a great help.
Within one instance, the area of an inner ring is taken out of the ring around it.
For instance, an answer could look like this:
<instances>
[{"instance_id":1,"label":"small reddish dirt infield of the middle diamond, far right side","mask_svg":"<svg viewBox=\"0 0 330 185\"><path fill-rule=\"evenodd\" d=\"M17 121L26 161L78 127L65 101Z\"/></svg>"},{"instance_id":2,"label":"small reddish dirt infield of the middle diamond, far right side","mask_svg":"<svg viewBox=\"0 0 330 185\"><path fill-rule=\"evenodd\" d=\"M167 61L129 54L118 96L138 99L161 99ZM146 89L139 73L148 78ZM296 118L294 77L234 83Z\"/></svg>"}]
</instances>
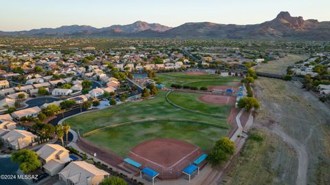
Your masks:
<instances>
[{"instance_id":1,"label":"small reddish dirt infield of the middle diamond, far right side","mask_svg":"<svg viewBox=\"0 0 330 185\"><path fill-rule=\"evenodd\" d=\"M200 96L198 100L213 105L235 105L236 102L236 98L234 96L210 95L210 94Z\"/></svg>"}]
</instances>

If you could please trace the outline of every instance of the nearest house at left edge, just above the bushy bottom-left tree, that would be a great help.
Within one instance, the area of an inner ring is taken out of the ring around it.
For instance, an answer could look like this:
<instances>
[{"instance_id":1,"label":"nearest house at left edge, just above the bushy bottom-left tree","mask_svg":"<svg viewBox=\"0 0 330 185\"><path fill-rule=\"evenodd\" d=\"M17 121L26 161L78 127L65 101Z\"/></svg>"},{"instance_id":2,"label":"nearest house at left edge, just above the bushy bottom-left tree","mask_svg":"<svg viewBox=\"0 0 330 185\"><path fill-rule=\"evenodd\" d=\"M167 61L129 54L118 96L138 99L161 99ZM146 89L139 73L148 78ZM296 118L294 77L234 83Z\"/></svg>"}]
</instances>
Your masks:
<instances>
[{"instance_id":1,"label":"nearest house at left edge, just above the bushy bottom-left tree","mask_svg":"<svg viewBox=\"0 0 330 185\"><path fill-rule=\"evenodd\" d=\"M13 129L1 136L0 139L4 146L18 150L30 146L36 138L38 138L38 136L29 131Z\"/></svg>"}]
</instances>

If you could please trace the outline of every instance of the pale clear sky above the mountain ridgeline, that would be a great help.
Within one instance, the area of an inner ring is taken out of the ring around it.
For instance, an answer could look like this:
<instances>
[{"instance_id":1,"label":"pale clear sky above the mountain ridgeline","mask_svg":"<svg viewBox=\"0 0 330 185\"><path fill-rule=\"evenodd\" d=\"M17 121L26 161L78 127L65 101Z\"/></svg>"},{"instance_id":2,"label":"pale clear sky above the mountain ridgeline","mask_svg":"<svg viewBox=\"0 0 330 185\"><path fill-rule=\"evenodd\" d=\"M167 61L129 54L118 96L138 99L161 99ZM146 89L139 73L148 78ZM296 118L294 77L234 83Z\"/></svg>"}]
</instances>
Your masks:
<instances>
[{"instance_id":1,"label":"pale clear sky above the mountain ridgeline","mask_svg":"<svg viewBox=\"0 0 330 185\"><path fill-rule=\"evenodd\" d=\"M186 22L253 24L281 11L304 19L330 21L330 0L3 0L0 30L91 25L96 28L135 21L177 26Z\"/></svg>"}]
</instances>

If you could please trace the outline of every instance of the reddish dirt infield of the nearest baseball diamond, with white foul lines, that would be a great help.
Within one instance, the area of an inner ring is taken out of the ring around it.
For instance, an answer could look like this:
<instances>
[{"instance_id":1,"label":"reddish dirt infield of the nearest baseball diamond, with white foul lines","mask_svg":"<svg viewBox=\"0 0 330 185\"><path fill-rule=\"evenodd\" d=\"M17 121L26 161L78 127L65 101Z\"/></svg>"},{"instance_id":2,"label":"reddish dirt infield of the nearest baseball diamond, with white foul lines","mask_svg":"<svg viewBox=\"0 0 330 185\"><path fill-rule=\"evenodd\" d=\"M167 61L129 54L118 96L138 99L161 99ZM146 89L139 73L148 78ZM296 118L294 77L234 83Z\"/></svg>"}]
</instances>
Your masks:
<instances>
[{"instance_id":1,"label":"reddish dirt infield of the nearest baseball diamond, with white foul lines","mask_svg":"<svg viewBox=\"0 0 330 185\"><path fill-rule=\"evenodd\" d=\"M137 144L128 157L159 173L161 179L177 179L203 151L181 140L157 138Z\"/></svg>"}]
</instances>

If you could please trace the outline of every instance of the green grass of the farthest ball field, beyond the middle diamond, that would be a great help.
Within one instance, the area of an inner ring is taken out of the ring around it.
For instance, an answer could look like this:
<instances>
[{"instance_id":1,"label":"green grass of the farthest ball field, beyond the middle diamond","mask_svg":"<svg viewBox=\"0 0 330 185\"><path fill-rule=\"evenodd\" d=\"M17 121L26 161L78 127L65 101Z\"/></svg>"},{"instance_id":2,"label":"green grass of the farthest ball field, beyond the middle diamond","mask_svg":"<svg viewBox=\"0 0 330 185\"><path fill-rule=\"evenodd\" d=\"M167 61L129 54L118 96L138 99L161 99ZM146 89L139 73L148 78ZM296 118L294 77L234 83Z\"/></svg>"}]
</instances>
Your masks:
<instances>
[{"instance_id":1,"label":"green grass of the farthest ball field, beyond the middle diamond","mask_svg":"<svg viewBox=\"0 0 330 185\"><path fill-rule=\"evenodd\" d=\"M209 87L212 85L234 85L240 81L238 77L220 77L215 74L192 75L183 72L157 74L157 78L166 87L171 84L189 85L195 87Z\"/></svg>"}]
</instances>

